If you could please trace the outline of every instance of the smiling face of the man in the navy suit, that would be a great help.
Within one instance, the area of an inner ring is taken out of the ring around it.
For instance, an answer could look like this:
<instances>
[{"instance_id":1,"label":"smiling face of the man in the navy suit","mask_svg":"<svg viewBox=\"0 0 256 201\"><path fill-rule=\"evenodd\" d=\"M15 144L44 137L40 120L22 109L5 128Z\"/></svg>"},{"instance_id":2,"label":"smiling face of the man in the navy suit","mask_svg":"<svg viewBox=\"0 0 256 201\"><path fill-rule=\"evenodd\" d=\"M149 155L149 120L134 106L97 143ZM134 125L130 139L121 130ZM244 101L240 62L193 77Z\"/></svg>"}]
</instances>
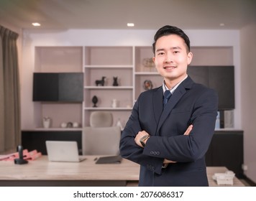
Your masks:
<instances>
[{"instance_id":1,"label":"smiling face of the man in the navy suit","mask_svg":"<svg viewBox=\"0 0 256 201\"><path fill-rule=\"evenodd\" d=\"M178 35L170 34L157 39L153 61L168 88L185 78L192 57L192 53L187 51L183 38Z\"/></svg>"}]
</instances>

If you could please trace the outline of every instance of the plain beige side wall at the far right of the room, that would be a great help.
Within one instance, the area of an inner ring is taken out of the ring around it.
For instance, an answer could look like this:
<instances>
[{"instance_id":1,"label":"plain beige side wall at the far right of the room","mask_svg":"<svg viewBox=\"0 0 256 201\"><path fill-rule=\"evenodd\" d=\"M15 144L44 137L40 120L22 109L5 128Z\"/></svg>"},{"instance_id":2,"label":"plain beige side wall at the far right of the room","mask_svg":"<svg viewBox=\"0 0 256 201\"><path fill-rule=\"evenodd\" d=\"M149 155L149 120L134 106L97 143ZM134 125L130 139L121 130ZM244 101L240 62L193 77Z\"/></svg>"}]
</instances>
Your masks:
<instances>
[{"instance_id":1,"label":"plain beige side wall at the far right of the room","mask_svg":"<svg viewBox=\"0 0 256 201\"><path fill-rule=\"evenodd\" d=\"M242 126L244 129L244 172L256 182L256 24L250 24L241 30L241 88L242 88Z\"/></svg>"}]
</instances>

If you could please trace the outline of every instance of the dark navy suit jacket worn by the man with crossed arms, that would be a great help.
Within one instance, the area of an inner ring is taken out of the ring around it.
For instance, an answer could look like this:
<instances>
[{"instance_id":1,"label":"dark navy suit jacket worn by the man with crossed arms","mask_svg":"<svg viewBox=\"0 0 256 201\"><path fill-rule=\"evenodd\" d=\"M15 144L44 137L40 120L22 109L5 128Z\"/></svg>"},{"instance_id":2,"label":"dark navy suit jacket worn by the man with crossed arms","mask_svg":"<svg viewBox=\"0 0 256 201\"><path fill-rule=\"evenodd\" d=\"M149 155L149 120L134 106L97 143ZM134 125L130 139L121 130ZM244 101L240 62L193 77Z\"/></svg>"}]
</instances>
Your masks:
<instances>
[{"instance_id":1,"label":"dark navy suit jacket worn by the man with crossed arms","mask_svg":"<svg viewBox=\"0 0 256 201\"><path fill-rule=\"evenodd\" d=\"M218 96L188 76L175 89L163 110L163 88L137 98L122 132L122 157L140 164L140 186L208 186L206 154L214 134ZM184 136L189 125L191 134ZM134 142L139 131L150 138L145 148ZM177 163L165 169L163 159Z\"/></svg>"}]
</instances>

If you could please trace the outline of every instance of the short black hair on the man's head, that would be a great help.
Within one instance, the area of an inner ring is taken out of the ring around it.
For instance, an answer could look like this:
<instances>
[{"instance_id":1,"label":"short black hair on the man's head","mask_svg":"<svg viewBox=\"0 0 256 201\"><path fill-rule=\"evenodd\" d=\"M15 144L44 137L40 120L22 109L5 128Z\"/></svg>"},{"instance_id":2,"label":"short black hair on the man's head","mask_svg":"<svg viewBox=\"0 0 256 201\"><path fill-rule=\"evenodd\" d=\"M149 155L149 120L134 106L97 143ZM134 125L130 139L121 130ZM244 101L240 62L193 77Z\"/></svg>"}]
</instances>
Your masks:
<instances>
[{"instance_id":1,"label":"short black hair on the man's head","mask_svg":"<svg viewBox=\"0 0 256 201\"><path fill-rule=\"evenodd\" d=\"M168 36L170 34L176 34L179 37L183 38L188 47L188 52L190 52L190 50L191 50L190 40L189 40L188 36L185 34L185 32L183 32L183 30L181 30L178 27L165 25L164 27L158 29L158 31L155 33L154 42L152 44L154 55L155 55L155 43L157 42L157 39L159 39L160 37L163 37L163 36Z\"/></svg>"}]
</instances>

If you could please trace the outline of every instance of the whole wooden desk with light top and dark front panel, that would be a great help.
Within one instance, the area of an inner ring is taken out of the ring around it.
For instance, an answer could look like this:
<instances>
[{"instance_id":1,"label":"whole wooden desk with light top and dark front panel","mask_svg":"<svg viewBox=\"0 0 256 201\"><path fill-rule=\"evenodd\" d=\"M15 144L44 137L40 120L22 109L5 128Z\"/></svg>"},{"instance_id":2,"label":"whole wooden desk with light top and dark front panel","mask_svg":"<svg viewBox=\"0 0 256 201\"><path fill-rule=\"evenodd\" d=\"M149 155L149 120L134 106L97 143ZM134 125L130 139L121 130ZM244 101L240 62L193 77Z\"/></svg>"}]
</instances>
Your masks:
<instances>
[{"instance_id":1,"label":"whole wooden desk with light top and dark front panel","mask_svg":"<svg viewBox=\"0 0 256 201\"><path fill-rule=\"evenodd\" d=\"M96 156L86 156L83 162L48 162L42 156L28 164L0 162L0 186L126 186L139 180L140 166L127 159L121 164L95 164ZM217 186L214 173L225 167L207 167L210 186ZM234 179L234 186L243 186Z\"/></svg>"}]
</instances>

